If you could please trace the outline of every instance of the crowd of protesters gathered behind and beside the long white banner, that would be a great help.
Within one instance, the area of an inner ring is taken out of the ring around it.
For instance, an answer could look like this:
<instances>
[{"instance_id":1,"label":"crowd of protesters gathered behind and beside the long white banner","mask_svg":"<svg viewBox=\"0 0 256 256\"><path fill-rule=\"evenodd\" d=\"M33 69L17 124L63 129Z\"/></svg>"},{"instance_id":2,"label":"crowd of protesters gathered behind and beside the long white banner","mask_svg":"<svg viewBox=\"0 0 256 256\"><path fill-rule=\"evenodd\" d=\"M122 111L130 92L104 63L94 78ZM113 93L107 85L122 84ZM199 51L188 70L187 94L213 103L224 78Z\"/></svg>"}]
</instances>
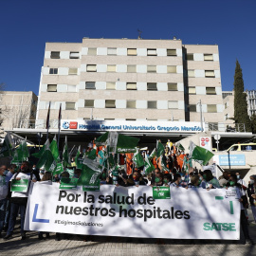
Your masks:
<instances>
[{"instance_id":1,"label":"crowd of protesters gathered behind and beside the long white banner","mask_svg":"<svg viewBox=\"0 0 256 256\"><path fill-rule=\"evenodd\" d=\"M92 142L89 143L85 155L88 155L92 149L96 149L96 159L101 165L104 164L105 154L104 146L96 147ZM253 213L254 221L256 222L256 175L250 176L249 184L246 184L240 178L240 174L224 172L217 179L210 170L200 171L192 167L192 159L184 151L177 149L174 143L167 141L164 153L159 157L150 157L149 150L145 149L140 154L143 158L148 157L154 165L154 170L148 174L145 172L145 166L137 168L133 160L133 154L119 154L116 157L116 166L118 168L105 168L101 172L101 185L116 185L116 186L173 186L176 188L192 189L202 188L206 190L236 187L240 193L241 202L241 227L247 243L253 242L249 238L247 229L247 208L250 205ZM113 155L115 158L115 155ZM165 165L162 162L165 162ZM74 158L72 158L71 168L74 169L74 176L79 178L82 174L81 169L76 168ZM32 168L29 162L25 161L17 168L11 164L9 169L3 165L0 167L0 238L5 240L12 238L12 232L16 222L16 217L20 214L21 238L26 239L26 231L24 230L25 214L27 208L27 192L10 192L10 182L13 179L28 179L29 182L44 182L51 180L60 182L61 178L70 177L68 172L55 174L37 170L34 165ZM247 200L248 197L248 200ZM3 232L6 235L3 236ZM46 238L49 233L46 233ZM39 232L39 239L43 239L43 232ZM60 240L60 234L56 234L57 240Z\"/></svg>"}]
</instances>

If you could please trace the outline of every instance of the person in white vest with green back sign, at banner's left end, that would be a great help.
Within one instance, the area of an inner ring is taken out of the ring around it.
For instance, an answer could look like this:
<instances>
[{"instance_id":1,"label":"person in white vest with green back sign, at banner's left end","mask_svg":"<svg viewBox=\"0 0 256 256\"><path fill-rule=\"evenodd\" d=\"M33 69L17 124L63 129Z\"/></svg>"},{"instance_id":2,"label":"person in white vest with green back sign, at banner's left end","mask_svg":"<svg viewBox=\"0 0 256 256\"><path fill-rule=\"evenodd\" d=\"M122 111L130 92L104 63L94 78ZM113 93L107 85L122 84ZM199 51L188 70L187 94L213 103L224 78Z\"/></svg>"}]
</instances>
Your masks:
<instances>
[{"instance_id":1,"label":"person in white vest with green back sign, at banner's left end","mask_svg":"<svg viewBox=\"0 0 256 256\"><path fill-rule=\"evenodd\" d=\"M13 186L13 180L15 181L23 181L22 185L22 192L19 192L19 186ZM22 240L26 239L26 232L24 230L24 222L25 222L25 213L27 208L27 196L28 196L28 186L31 182L36 182L35 175L31 174L29 163L24 161L21 165L20 172L13 175L10 179L11 181L11 198L10 198L10 216L9 216L9 229L7 231L6 236L4 237L5 240L12 238L12 232L15 226L16 217L18 214L18 210L20 210L21 214L21 237ZM25 189L24 189L25 188Z\"/></svg>"}]
</instances>

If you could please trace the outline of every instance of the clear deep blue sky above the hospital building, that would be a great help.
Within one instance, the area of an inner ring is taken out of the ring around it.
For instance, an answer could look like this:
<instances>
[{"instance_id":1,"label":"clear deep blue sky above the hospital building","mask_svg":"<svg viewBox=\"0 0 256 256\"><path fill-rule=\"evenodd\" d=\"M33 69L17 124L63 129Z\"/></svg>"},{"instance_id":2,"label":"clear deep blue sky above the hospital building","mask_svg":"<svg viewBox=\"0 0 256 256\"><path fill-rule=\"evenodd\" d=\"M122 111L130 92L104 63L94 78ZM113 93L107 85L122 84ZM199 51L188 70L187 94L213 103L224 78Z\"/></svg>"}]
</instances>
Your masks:
<instances>
[{"instance_id":1,"label":"clear deep blue sky above the hospital building","mask_svg":"<svg viewBox=\"0 0 256 256\"><path fill-rule=\"evenodd\" d=\"M256 89L256 0L0 0L0 83L38 94L46 42L82 37L177 39L218 45L223 91L236 60Z\"/></svg>"}]
</instances>

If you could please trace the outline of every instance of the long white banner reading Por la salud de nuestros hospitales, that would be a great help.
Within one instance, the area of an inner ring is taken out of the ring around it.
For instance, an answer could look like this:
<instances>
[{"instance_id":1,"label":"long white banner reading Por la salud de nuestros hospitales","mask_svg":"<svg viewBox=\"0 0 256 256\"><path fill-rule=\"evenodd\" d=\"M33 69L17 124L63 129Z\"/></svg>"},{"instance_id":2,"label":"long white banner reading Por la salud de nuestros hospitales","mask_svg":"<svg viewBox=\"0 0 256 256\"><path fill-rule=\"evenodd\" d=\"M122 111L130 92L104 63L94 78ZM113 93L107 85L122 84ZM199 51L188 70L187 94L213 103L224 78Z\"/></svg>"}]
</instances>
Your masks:
<instances>
[{"instance_id":1,"label":"long white banner reading Por la salud de nuestros hospitales","mask_svg":"<svg viewBox=\"0 0 256 256\"><path fill-rule=\"evenodd\" d=\"M240 239L240 203L235 189L171 187L171 199L153 199L150 186L102 185L100 192L61 191L59 184L30 188L26 230L76 234Z\"/></svg>"}]
</instances>

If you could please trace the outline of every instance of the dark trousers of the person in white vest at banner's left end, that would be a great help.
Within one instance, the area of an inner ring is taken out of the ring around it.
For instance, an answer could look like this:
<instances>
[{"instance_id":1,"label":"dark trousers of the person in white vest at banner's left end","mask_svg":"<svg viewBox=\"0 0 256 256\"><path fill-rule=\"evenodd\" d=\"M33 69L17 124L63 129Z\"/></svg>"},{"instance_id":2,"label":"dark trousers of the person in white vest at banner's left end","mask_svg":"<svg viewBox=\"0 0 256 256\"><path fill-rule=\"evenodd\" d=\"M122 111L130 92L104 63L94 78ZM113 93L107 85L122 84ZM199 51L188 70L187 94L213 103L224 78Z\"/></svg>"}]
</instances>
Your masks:
<instances>
[{"instance_id":1,"label":"dark trousers of the person in white vest at banner's left end","mask_svg":"<svg viewBox=\"0 0 256 256\"><path fill-rule=\"evenodd\" d=\"M25 223L26 208L27 208L26 205L18 205L18 204L10 203L9 228L7 231L7 235L12 234L13 232L19 209L21 214L21 234L23 235L25 233L24 223Z\"/></svg>"}]
</instances>

